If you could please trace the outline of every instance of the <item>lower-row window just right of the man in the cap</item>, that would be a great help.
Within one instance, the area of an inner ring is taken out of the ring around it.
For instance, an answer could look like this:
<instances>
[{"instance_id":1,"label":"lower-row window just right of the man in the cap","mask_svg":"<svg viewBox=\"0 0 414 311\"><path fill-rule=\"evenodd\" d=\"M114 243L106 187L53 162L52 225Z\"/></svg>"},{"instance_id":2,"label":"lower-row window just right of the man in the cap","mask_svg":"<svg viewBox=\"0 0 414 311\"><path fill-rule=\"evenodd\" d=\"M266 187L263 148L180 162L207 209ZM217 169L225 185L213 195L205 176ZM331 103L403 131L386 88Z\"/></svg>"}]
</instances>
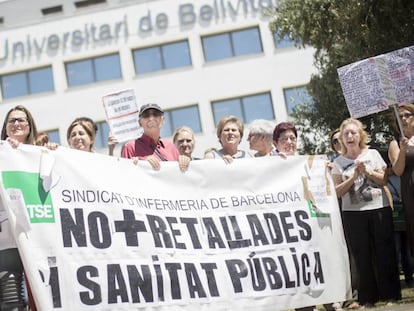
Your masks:
<instances>
[{"instance_id":1,"label":"lower-row window just right of the man in the cap","mask_svg":"<svg viewBox=\"0 0 414 311\"><path fill-rule=\"evenodd\" d=\"M188 106L164 112L165 124L161 129L161 137L172 136L174 130L180 126L190 127L194 133L201 132L201 120L198 106Z\"/></svg>"}]
</instances>

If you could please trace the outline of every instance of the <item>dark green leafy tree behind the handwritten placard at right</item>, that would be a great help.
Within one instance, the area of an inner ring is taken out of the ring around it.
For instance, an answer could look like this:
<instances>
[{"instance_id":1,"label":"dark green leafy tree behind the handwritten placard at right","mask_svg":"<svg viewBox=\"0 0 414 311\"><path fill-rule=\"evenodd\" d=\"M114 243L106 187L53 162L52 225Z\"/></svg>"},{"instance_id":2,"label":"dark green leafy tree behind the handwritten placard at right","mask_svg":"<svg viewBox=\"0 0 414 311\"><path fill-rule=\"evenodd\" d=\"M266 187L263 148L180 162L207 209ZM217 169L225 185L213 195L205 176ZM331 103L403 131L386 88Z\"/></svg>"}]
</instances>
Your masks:
<instances>
[{"instance_id":1,"label":"dark green leafy tree behind the handwritten placard at right","mask_svg":"<svg viewBox=\"0 0 414 311\"><path fill-rule=\"evenodd\" d=\"M349 117L337 68L413 45L414 1L280 0L270 14L279 39L288 36L298 48L315 49L318 73L307 87L313 103L297 107L293 117L303 133L301 152L326 152L329 132ZM371 143L395 134L391 117L386 112L361 119Z\"/></svg>"}]
</instances>

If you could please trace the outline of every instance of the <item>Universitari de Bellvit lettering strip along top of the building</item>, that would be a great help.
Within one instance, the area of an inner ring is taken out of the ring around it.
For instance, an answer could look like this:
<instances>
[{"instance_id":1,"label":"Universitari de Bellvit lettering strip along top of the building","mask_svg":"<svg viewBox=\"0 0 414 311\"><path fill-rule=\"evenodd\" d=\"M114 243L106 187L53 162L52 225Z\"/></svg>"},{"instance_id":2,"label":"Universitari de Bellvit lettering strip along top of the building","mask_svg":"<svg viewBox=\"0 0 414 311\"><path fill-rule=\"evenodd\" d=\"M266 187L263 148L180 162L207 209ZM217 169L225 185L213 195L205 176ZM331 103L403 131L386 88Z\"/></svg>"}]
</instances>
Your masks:
<instances>
[{"instance_id":1,"label":"Universitari de Bellvit lettering strip along top of the building","mask_svg":"<svg viewBox=\"0 0 414 311\"><path fill-rule=\"evenodd\" d=\"M145 35L151 31L166 31L170 25L178 23L179 27L191 28L196 23L208 25L213 21L227 17L247 16L249 14L262 14L263 11L272 9L278 0L213 0L208 3L197 1L184 3L177 7L177 15L166 12L155 12L145 7L141 16L130 21L128 15L113 23L85 23L62 33L50 33L33 37L31 34L23 36L23 40L12 41L11 38L2 39L0 42L0 60L27 59L30 56L39 56L45 52L55 52L72 48L79 50L82 46L99 44L102 42L125 40L134 32L137 35ZM171 21L175 21L172 23ZM134 24L134 22L136 24ZM131 24L130 24L131 23ZM11 37L12 35L10 35Z\"/></svg>"}]
</instances>

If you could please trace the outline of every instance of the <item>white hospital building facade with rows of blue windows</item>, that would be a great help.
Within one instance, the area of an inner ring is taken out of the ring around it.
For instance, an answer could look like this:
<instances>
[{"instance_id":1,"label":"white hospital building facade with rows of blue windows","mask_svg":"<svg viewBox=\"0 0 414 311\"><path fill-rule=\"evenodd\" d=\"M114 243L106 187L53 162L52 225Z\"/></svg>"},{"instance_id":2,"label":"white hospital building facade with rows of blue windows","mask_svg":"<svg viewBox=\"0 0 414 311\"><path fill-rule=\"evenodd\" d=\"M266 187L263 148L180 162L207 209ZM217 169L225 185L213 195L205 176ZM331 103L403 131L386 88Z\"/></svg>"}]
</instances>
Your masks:
<instances>
[{"instance_id":1,"label":"white hospital building facade with rows of blue windows","mask_svg":"<svg viewBox=\"0 0 414 311\"><path fill-rule=\"evenodd\" d=\"M98 124L102 97L134 90L166 110L163 137L187 125L195 156L218 147L216 124L236 115L285 121L306 98L313 49L277 42L265 13L277 0L6 0L0 2L0 120L24 105L40 131L67 145L73 119ZM247 135L242 147L246 147ZM117 151L119 152L119 148Z\"/></svg>"}]
</instances>

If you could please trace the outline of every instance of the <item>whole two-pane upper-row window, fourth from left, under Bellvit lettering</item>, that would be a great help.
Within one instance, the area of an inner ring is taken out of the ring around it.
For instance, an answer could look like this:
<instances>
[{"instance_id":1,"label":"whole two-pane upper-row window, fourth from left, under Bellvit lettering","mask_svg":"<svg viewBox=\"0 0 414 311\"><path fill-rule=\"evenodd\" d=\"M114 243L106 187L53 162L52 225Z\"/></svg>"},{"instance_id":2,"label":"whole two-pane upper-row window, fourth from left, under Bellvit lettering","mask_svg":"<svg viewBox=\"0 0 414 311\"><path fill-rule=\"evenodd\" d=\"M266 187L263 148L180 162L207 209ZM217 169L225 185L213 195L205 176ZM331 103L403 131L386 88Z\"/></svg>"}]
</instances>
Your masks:
<instances>
[{"instance_id":1,"label":"whole two-pane upper-row window, fourth from left, under Bellvit lettering","mask_svg":"<svg viewBox=\"0 0 414 311\"><path fill-rule=\"evenodd\" d=\"M263 51L257 27L206 36L202 42L206 62Z\"/></svg>"}]
</instances>

